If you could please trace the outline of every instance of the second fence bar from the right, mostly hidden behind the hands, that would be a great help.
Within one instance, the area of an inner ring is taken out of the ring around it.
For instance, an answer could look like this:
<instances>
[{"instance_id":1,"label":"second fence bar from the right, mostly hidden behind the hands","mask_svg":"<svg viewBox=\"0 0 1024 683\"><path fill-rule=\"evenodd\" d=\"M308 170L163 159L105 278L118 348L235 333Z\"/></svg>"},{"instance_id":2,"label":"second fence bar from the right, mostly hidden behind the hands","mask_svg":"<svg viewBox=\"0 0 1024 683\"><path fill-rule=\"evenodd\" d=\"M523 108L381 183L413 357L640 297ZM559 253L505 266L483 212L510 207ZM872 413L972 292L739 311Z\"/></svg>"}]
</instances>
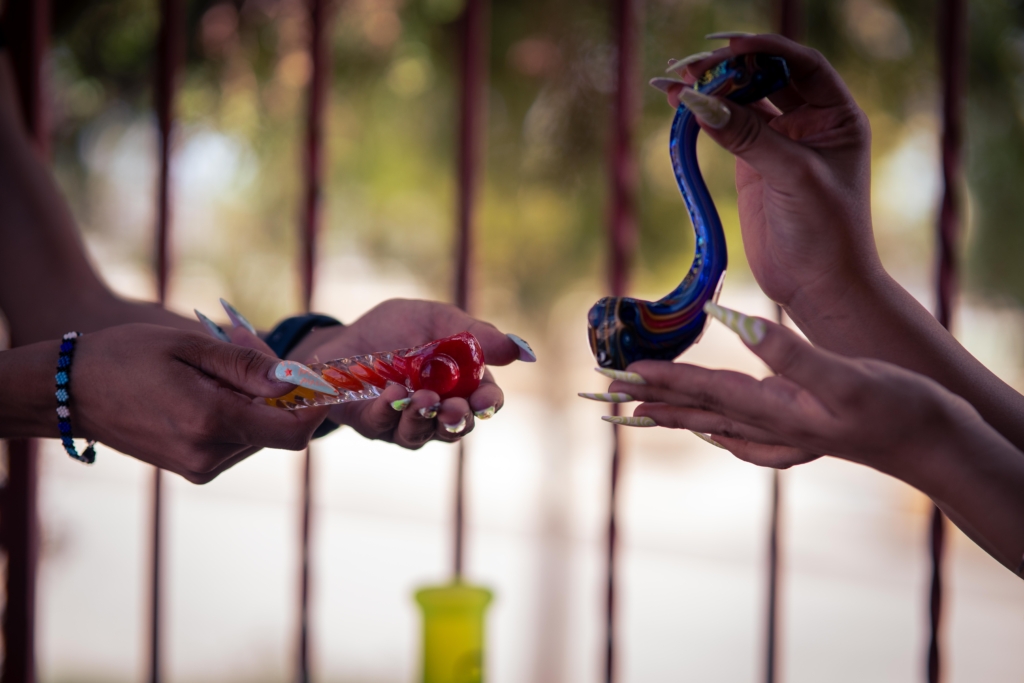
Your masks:
<instances>
[{"instance_id":1,"label":"second fence bar from the right, mostly hidden behind the hands","mask_svg":"<svg viewBox=\"0 0 1024 683\"><path fill-rule=\"evenodd\" d=\"M804 33L803 0L774 0L775 32L790 40L801 40ZM782 307L775 305L775 318L782 325ZM778 679L779 627L779 544L781 537L779 507L782 502L782 473L771 471L771 498L768 509L767 583L768 605L765 624L765 683Z\"/></svg>"}]
</instances>

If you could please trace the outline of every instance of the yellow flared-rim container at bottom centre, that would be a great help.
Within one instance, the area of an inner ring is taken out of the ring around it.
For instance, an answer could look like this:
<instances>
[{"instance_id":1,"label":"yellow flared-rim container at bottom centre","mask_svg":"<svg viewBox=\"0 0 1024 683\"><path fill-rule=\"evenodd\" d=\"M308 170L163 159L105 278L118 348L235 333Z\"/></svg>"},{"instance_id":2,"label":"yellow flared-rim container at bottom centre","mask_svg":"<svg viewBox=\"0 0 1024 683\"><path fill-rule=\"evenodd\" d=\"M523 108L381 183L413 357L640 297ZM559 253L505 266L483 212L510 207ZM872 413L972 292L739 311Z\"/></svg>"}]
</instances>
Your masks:
<instances>
[{"instance_id":1,"label":"yellow flared-rim container at bottom centre","mask_svg":"<svg viewBox=\"0 0 1024 683\"><path fill-rule=\"evenodd\" d=\"M483 683L484 622L493 594L450 584L416 592L423 610L423 683Z\"/></svg>"}]
</instances>

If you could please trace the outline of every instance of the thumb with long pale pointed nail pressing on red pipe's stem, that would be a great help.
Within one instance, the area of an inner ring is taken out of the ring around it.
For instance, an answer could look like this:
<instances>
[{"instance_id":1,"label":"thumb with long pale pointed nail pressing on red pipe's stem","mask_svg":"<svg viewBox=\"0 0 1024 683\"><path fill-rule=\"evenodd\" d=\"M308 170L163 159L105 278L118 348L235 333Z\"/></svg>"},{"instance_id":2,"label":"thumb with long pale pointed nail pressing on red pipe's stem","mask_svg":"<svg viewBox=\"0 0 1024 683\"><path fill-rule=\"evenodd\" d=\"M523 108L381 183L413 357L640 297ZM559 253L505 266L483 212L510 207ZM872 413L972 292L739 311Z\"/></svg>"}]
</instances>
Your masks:
<instances>
[{"instance_id":1,"label":"thumb with long pale pointed nail pressing on red pipe's stem","mask_svg":"<svg viewBox=\"0 0 1024 683\"><path fill-rule=\"evenodd\" d=\"M179 359L250 396L275 397L296 386L335 396L338 390L294 360L279 360L254 348L203 339L181 349Z\"/></svg>"}]
</instances>

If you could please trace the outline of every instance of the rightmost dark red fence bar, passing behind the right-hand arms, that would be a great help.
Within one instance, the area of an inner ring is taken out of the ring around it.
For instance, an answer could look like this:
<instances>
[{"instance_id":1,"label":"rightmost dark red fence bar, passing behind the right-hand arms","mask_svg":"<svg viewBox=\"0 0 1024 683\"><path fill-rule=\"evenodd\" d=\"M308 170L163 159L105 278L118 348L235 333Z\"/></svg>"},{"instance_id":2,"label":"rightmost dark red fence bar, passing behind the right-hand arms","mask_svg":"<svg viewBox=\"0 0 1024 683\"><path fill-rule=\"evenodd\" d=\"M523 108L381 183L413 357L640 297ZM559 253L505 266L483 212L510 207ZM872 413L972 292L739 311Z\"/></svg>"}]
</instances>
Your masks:
<instances>
[{"instance_id":1,"label":"rightmost dark red fence bar, passing behind the right-hand arms","mask_svg":"<svg viewBox=\"0 0 1024 683\"><path fill-rule=\"evenodd\" d=\"M956 291L956 248L963 221L961 182L963 174L964 96L967 73L967 1L943 0L939 4L938 52L942 79L942 205L937 225L938 268L936 317L947 330L952 326ZM929 591L928 681L941 680L939 636L942 625L942 557L945 518L932 509L929 529L932 583Z\"/></svg>"}]
</instances>

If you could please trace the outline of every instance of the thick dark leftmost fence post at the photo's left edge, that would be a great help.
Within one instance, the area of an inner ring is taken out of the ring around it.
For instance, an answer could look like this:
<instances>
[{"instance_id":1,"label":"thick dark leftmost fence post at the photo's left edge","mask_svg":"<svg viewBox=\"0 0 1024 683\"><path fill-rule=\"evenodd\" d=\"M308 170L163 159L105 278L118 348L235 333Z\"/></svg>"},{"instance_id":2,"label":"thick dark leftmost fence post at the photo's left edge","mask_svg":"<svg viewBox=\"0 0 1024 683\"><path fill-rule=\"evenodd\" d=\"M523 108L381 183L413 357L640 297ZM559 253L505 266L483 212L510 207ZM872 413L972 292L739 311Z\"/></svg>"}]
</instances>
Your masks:
<instances>
[{"instance_id":1,"label":"thick dark leftmost fence post at the photo's left edge","mask_svg":"<svg viewBox=\"0 0 1024 683\"><path fill-rule=\"evenodd\" d=\"M4 3L4 33L26 129L49 156L43 59L49 44L49 0ZM4 683L36 681L36 578L39 561L39 456L36 441L7 442L7 481L0 489L0 544L7 554L3 631Z\"/></svg>"}]
</instances>

